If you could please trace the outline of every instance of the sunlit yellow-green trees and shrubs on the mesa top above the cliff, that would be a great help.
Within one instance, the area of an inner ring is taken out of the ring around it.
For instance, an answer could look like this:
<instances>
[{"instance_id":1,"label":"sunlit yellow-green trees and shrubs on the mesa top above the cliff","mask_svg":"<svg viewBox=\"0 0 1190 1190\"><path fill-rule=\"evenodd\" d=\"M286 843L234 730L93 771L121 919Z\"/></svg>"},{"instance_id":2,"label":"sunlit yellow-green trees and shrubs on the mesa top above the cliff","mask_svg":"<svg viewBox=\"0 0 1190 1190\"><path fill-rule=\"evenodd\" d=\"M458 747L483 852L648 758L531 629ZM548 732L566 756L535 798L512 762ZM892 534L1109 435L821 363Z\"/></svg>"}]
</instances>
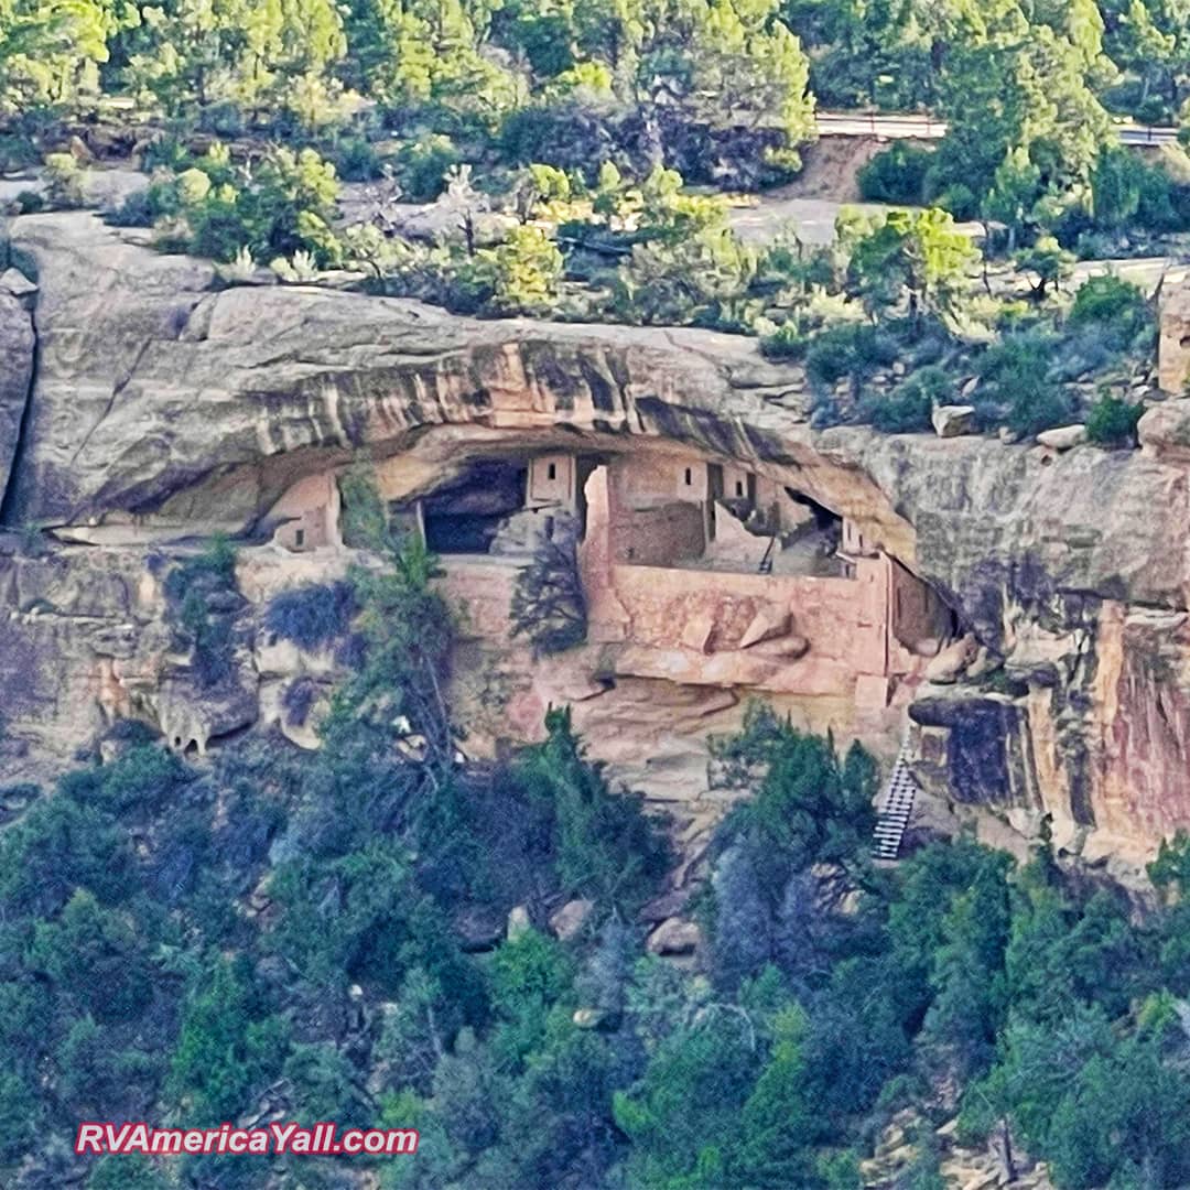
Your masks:
<instances>
[{"instance_id":1,"label":"sunlit yellow-green trees and shrubs on the mesa top above the cliff","mask_svg":"<svg viewBox=\"0 0 1190 1190\"><path fill-rule=\"evenodd\" d=\"M42 158L17 200L33 211L87 201L79 133L136 149L148 184L108 218L213 258L221 283L347 270L334 283L461 314L753 334L804 362L819 425L919 432L973 403L979 428L1023 437L1147 380L1139 293L1072 308L1071 292L1079 259L1184 248L1190 157L1125 148L1111 117L1179 118L1188 17L1169 0L10 0L0 157ZM829 245L741 237L732 193L796 176L815 101L947 132L859 171L864 198L906 209L844 209Z\"/></svg>"}]
</instances>

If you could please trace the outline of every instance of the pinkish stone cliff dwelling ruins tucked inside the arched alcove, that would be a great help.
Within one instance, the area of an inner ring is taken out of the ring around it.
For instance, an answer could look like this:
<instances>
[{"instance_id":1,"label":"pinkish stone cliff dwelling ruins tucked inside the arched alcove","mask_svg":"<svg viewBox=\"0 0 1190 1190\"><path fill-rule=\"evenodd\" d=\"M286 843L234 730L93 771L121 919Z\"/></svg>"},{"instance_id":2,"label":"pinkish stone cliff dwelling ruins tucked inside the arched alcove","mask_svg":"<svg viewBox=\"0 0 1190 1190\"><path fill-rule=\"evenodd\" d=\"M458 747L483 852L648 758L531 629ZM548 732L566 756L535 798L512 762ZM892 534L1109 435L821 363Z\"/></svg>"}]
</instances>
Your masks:
<instances>
[{"instance_id":1,"label":"pinkish stone cliff dwelling ruins tucked inside the arched alcove","mask_svg":"<svg viewBox=\"0 0 1190 1190\"><path fill-rule=\"evenodd\" d=\"M588 675L816 702L835 708L828 722L844 732L866 715L892 750L925 659L956 632L937 593L856 522L743 465L505 449L411 493L415 470L401 458L377 469L392 521L439 557L465 633L489 651L514 647L516 574L540 540L564 534L588 601ZM302 480L271 516L286 550L339 552L332 476ZM481 701L490 700L489 690ZM507 701L509 720L532 734L546 697L519 710Z\"/></svg>"}]
</instances>

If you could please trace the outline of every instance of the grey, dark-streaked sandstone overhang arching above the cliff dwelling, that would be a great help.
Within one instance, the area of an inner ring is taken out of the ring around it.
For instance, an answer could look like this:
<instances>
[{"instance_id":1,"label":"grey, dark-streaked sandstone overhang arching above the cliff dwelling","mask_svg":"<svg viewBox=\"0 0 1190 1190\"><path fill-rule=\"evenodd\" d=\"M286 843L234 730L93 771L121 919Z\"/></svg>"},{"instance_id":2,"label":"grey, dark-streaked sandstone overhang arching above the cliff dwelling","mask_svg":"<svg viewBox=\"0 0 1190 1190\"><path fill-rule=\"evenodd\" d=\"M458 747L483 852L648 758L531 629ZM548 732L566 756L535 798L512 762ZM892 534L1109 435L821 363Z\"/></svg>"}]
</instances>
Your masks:
<instances>
[{"instance_id":1,"label":"grey, dark-streaked sandstone overhang arching above the cliff dwelling","mask_svg":"<svg viewBox=\"0 0 1190 1190\"><path fill-rule=\"evenodd\" d=\"M415 487L469 445L640 439L745 461L850 516L983 638L1009 631L1008 593L1183 601L1190 509L1164 459L814 432L800 376L735 336L482 322L301 287L212 292L208 265L82 214L19 219L13 239L42 286L13 522L244 531L295 478L361 451L403 452Z\"/></svg>"}]
</instances>

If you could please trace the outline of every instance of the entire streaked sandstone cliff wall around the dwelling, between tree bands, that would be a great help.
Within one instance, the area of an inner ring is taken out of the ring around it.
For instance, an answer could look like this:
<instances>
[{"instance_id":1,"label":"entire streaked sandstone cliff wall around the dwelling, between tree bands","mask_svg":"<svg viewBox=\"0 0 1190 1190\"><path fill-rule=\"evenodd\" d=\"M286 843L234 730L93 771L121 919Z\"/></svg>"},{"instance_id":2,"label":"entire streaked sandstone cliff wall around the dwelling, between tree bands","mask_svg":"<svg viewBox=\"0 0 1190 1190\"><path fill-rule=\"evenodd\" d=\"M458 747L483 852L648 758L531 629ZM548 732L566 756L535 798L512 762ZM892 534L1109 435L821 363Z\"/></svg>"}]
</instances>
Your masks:
<instances>
[{"instance_id":1,"label":"entire streaked sandstone cliff wall around the dwelling, between tree bands","mask_svg":"<svg viewBox=\"0 0 1190 1190\"><path fill-rule=\"evenodd\" d=\"M846 518L969 634L953 664L932 665L933 681L900 702L885 691L868 722L854 689L823 677L819 701L800 701L808 726L871 733L885 754L907 731L929 793L1026 837L1048 816L1059 845L1088 858L1135 864L1190 826L1190 402L1154 407L1139 451L818 431L800 371L739 337L476 321L326 288L219 288L209 265L152 252L87 214L23 217L12 240L37 292L15 286L14 305L0 294L0 781L44 777L124 714L206 746L275 715L277 682L320 664L324 679L324 663L278 659L258 639L270 591L346 564L336 543L290 553L273 541L302 481L365 459L395 499L511 449L631 453L646 466L679 453L738 465ZM169 652L159 584L217 530L242 541L245 607L228 612L238 677L212 701ZM624 609L639 664L630 674L621 656L619 718L593 714L589 729L639 762L665 728L641 722L633 740L633 715L663 706L665 689L688 708L674 720L688 728L684 754L703 727L726 722L721 712L738 715L758 679L713 654L706 664L720 675L650 656L650 624L674 613L645 576L628 577L644 584ZM462 659L483 649L499 662L500 635L496 624L464 639ZM591 695L607 691L597 650L539 678L556 688L544 691L526 685L532 660L516 647L501 663L516 731L532 731L545 693L612 704ZM829 676L829 660L814 664Z\"/></svg>"}]
</instances>

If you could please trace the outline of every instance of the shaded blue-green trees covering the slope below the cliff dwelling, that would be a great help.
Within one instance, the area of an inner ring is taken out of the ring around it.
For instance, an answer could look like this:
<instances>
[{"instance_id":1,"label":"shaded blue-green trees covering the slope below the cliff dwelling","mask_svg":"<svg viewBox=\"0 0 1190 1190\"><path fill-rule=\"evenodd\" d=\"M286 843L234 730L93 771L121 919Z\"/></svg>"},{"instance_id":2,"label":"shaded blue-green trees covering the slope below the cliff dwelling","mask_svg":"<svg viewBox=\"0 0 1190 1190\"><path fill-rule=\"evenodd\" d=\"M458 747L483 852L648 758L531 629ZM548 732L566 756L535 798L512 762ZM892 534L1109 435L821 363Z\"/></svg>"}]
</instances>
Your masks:
<instances>
[{"instance_id":1,"label":"shaded blue-green trees covering the slope below the cliff dwelling","mask_svg":"<svg viewBox=\"0 0 1190 1190\"><path fill-rule=\"evenodd\" d=\"M637 917L671 859L566 712L494 768L394 746L396 709L433 731L425 574L390 555L361 580L365 634L382 614L400 656L370 638L317 756L257 738L195 768L129 725L0 835L5 1184L74 1182L79 1119L278 1108L419 1128L415 1158L355 1159L386 1186L843 1190L894 1115L917 1152L898 1185L940 1184L956 1116L1061 1190L1185 1183L1188 840L1141 921L1045 851L1017 870L958 839L875 869L871 758L758 708L718 745L753 796L715 835L702 959L676 965ZM593 908L558 941L572 897ZM81 1172L239 1188L269 1161Z\"/></svg>"}]
</instances>

